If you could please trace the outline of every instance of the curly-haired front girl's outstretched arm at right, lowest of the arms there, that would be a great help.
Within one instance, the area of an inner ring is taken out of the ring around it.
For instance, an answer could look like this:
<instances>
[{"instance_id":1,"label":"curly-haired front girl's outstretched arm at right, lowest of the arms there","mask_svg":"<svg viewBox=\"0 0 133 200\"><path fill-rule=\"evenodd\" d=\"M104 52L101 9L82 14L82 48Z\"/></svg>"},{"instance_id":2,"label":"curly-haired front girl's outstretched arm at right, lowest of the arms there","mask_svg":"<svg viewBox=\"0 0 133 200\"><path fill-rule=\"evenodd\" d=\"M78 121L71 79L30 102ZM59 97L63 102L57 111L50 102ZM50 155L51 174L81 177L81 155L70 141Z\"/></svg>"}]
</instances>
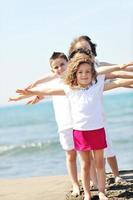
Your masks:
<instances>
[{"instance_id":1,"label":"curly-haired front girl's outstretched arm at right, lowest of the arms there","mask_svg":"<svg viewBox=\"0 0 133 200\"><path fill-rule=\"evenodd\" d=\"M133 79L116 79L112 82L104 84L104 91L112 90L118 87L130 87L133 85Z\"/></svg>"}]
</instances>

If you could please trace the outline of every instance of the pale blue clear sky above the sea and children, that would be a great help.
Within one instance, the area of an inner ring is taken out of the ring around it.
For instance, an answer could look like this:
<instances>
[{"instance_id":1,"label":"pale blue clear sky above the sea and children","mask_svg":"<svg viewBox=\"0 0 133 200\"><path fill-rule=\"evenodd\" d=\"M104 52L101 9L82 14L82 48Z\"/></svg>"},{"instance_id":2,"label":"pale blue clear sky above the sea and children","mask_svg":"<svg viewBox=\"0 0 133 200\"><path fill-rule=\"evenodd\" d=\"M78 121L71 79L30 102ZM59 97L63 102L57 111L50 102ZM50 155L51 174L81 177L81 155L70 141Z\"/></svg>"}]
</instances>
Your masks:
<instances>
[{"instance_id":1,"label":"pale blue clear sky above the sea and children","mask_svg":"<svg viewBox=\"0 0 133 200\"><path fill-rule=\"evenodd\" d=\"M100 61L132 61L133 1L1 1L0 106L10 104L17 88L48 74L53 51L68 54L80 35L97 44Z\"/></svg>"}]
</instances>

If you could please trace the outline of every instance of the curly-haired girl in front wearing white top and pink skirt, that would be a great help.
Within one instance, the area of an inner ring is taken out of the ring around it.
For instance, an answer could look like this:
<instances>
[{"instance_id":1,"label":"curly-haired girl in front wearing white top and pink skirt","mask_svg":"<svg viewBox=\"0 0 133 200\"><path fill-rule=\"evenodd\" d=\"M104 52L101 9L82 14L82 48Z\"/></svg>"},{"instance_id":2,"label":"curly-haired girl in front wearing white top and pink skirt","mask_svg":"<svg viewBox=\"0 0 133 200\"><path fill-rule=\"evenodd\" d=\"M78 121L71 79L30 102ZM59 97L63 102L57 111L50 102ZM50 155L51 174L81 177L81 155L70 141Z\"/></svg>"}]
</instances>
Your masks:
<instances>
[{"instance_id":1,"label":"curly-haired girl in front wearing white top and pink skirt","mask_svg":"<svg viewBox=\"0 0 133 200\"><path fill-rule=\"evenodd\" d=\"M102 93L117 87L133 84L133 80L118 79L104 82L104 75L97 76L87 55L77 54L69 61L65 82L70 87L45 90L18 90L23 95L66 95L71 104L75 149L80 153L81 178L84 200L90 200L90 150L94 151L98 174L99 198L106 200L103 149L107 146L104 131ZM97 138L97 139L96 139ZM97 142L96 142L97 141Z\"/></svg>"}]
</instances>

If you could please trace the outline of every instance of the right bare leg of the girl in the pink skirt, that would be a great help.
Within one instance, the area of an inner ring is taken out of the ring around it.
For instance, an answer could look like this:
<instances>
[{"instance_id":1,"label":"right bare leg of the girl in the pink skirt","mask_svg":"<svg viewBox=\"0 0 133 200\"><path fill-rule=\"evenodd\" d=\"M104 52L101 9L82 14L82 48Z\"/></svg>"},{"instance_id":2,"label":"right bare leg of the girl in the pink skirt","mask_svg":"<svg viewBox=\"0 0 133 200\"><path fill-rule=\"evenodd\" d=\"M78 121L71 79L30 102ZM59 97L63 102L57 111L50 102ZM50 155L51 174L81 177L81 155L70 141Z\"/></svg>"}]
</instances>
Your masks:
<instances>
[{"instance_id":1,"label":"right bare leg of the girl in the pink skirt","mask_svg":"<svg viewBox=\"0 0 133 200\"><path fill-rule=\"evenodd\" d=\"M105 164L104 164L104 151L95 150L94 151L96 169L97 169L97 178L98 178L98 190L99 190L99 199L107 200L105 196Z\"/></svg>"}]
</instances>

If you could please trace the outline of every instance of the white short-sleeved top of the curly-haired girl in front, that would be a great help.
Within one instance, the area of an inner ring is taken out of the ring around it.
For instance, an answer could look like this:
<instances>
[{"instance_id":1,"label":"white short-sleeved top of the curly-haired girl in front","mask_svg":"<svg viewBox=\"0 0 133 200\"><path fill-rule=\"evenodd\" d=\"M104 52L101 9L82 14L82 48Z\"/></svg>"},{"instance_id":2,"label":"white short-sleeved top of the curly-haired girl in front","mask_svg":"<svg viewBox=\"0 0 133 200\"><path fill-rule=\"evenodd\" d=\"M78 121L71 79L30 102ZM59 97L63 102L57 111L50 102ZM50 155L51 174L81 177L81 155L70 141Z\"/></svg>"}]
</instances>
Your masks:
<instances>
[{"instance_id":1,"label":"white short-sleeved top of the curly-haired girl in front","mask_svg":"<svg viewBox=\"0 0 133 200\"><path fill-rule=\"evenodd\" d=\"M75 130L95 130L104 127L103 87L105 75L97 76L97 83L89 89L71 89L65 85Z\"/></svg>"}]
</instances>

